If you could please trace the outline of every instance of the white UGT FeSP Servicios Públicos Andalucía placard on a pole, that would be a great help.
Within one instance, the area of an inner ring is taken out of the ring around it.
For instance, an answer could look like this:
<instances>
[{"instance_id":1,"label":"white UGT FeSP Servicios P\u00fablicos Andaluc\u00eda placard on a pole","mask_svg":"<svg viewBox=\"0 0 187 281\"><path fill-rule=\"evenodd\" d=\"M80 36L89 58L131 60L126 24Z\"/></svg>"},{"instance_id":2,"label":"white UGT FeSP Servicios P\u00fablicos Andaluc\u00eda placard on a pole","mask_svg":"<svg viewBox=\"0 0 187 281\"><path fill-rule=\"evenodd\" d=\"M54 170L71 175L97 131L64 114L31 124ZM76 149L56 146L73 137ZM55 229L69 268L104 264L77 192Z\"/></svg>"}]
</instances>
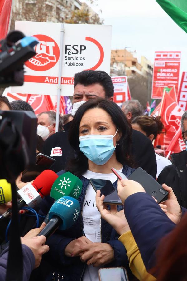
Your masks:
<instances>
[{"instance_id":1,"label":"white UGT FeSP Servicios P\u00fablicos Andaluc\u00eda placard on a pole","mask_svg":"<svg viewBox=\"0 0 187 281\"><path fill-rule=\"evenodd\" d=\"M16 21L15 29L37 37L39 44L37 54L25 63L24 85L12 91L57 95L60 63L63 96L73 95L75 73L89 69L110 72L112 26L64 24L61 62L60 23Z\"/></svg>"}]
</instances>

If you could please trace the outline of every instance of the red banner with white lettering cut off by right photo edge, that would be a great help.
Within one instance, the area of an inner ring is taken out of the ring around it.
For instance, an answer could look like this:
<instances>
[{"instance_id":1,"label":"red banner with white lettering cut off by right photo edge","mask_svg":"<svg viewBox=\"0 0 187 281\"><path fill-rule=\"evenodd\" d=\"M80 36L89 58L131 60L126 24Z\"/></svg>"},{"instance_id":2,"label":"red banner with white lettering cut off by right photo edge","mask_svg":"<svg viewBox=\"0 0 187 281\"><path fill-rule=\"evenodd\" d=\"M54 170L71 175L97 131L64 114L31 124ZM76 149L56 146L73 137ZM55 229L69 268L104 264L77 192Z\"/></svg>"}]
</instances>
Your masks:
<instances>
[{"instance_id":1,"label":"red banner with white lettering cut off by right photo edge","mask_svg":"<svg viewBox=\"0 0 187 281\"><path fill-rule=\"evenodd\" d=\"M178 93L178 105L182 108L182 110L187 110L187 72L182 73Z\"/></svg>"}]
</instances>

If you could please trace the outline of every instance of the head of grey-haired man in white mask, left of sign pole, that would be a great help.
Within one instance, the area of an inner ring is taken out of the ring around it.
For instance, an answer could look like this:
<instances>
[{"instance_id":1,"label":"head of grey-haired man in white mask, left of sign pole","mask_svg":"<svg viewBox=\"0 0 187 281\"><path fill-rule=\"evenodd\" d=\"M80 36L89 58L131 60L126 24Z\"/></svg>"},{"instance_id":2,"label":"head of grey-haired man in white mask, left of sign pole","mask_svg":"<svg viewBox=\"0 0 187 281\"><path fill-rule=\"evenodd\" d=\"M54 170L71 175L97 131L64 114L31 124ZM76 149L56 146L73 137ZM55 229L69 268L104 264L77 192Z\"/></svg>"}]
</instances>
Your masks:
<instances>
[{"instance_id":1,"label":"head of grey-haired man in white mask, left of sign pole","mask_svg":"<svg viewBox=\"0 0 187 281\"><path fill-rule=\"evenodd\" d=\"M52 111L41 112L38 114L37 134L45 141L55 133L56 113ZM62 130L62 121L59 119L59 131Z\"/></svg>"}]
</instances>

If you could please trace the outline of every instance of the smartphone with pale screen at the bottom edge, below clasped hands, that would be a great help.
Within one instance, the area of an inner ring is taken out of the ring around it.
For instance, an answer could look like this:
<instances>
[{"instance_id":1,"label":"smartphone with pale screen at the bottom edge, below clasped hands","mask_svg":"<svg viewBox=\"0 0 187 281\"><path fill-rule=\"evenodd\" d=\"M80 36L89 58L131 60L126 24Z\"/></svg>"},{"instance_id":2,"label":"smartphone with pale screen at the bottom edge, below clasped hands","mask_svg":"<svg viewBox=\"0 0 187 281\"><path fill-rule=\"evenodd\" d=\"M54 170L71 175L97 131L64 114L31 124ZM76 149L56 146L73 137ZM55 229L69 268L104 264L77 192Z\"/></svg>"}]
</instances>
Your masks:
<instances>
[{"instance_id":1,"label":"smartphone with pale screen at the bottom edge, below clasped hands","mask_svg":"<svg viewBox=\"0 0 187 281\"><path fill-rule=\"evenodd\" d=\"M100 281L128 281L127 271L124 267L100 268L98 275Z\"/></svg>"}]
</instances>

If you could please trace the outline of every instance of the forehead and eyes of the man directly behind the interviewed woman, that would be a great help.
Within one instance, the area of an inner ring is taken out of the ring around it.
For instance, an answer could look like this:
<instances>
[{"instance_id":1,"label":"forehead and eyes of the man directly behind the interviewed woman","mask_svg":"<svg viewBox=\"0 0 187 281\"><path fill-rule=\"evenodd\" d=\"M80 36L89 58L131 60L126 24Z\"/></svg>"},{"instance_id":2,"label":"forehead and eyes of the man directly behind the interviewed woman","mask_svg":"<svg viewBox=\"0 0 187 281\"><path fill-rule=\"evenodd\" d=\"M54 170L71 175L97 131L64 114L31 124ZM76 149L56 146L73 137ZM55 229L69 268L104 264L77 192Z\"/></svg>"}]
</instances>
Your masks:
<instances>
[{"instance_id":1,"label":"forehead and eyes of the man directly behind the interviewed woman","mask_svg":"<svg viewBox=\"0 0 187 281\"><path fill-rule=\"evenodd\" d=\"M105 90L99 83L94 83L88 86L77 84L74 88L73 103L78 101L89 101L97 97L105 98ZM113 101L113 97L109 100Z\"/></svg>"}]
</instances>

